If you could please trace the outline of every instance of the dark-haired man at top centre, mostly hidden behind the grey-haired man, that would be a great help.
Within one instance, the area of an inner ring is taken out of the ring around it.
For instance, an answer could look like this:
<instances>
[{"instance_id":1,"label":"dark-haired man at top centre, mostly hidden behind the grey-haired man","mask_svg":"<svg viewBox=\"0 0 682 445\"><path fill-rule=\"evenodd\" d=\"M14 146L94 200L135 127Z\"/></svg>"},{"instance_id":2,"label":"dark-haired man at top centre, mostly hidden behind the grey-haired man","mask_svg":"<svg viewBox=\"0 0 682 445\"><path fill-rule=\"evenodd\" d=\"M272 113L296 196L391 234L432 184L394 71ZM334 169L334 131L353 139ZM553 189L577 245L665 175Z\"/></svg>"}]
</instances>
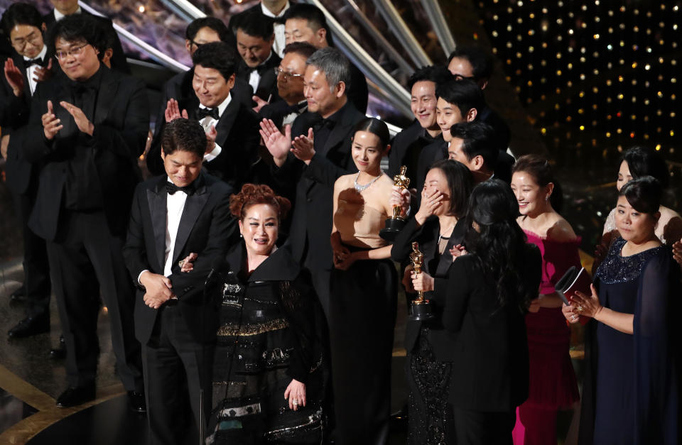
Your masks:
<instances>
[{"instance_id":1,"label":"dark-haired man at top centre, mostly hidden behind the grey-haired man","mask_svg":"<svg viewBox=\"0 0 682 445\"><path fill-rule=\"evenodd\" d=\"M284 14L284 39L286 44L292 42L308 42L315 48L334 46L332 33L327 24L325 13L317 6L310 4L295 4ZM367 79L358 67L350 64L350 79L346 85L346 95L355 109L364 113L367 111L369 90Z\"/></svg>"}]
</instances>

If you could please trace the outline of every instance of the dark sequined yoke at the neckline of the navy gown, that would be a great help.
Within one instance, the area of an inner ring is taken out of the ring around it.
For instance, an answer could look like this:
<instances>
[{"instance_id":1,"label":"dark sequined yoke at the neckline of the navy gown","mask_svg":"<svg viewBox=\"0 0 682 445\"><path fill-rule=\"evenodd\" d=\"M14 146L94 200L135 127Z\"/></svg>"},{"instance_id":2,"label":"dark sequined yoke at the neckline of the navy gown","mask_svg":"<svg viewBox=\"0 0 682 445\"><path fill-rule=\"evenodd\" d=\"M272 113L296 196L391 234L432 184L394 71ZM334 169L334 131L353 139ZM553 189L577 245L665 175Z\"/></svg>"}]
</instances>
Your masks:
<instances>
[{"instance_id":1,"label":"dark sequined yoke at the neckline of the navy gown","mask_svg":"<svg viewBox=\"0 0 682 445\"><path fill-rule=\"evenodd\" d=\"M597 277L600 282L614 285L637 280L639 275L642 275L644 263L658 255L661 249L666 248L665 246L659 246L631 256L621 256L620 252L625 243L626 241L623 238L618 238L611 245L606 259L597 268Z\"/></svg>"}]
</instances>

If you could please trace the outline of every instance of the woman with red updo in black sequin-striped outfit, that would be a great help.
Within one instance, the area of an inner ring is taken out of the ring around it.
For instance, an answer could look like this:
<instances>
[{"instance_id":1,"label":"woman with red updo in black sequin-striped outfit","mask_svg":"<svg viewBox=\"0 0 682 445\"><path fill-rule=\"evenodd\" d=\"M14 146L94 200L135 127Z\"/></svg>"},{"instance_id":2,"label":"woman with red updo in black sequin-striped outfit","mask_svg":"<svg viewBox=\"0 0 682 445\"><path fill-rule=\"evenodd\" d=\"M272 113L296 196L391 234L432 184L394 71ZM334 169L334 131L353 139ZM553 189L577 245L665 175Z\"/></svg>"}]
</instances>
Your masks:
<instances>
[{"instance_id":1,"label":"woman with red updo in black sequin-striped outfit","mask_svg":"<svg viewBox=\"0 0 682 445\"><path fill-rule=\"evenodd\" d=\"M276 246L291 208L244 184L229 209L243 238L220 273L220 328L207 444L320 443L327 364L324 316L310 280Z\"/></svg>"}]
</instances>

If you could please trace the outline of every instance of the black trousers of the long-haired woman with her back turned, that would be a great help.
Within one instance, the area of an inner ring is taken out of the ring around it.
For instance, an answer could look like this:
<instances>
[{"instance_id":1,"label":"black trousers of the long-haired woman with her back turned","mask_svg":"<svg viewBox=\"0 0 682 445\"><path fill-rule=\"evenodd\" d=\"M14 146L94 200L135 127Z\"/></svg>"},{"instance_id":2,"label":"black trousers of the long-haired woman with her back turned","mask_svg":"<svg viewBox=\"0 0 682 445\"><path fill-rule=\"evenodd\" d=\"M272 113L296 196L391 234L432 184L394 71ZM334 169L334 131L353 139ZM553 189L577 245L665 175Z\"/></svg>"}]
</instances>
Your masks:
<instances>
[{"instance_id":1,"label":"black trousers of the long-haired woman with her back turned","mask_svg":"<svg viewBox=\"0 0 682 445\"><path fill-rule=\"evenodd\" d=\"M480 412L453 407L454 431L457 445L511 445L511 430L516 423L516 410Z\"/></svg>"}]
</instances>

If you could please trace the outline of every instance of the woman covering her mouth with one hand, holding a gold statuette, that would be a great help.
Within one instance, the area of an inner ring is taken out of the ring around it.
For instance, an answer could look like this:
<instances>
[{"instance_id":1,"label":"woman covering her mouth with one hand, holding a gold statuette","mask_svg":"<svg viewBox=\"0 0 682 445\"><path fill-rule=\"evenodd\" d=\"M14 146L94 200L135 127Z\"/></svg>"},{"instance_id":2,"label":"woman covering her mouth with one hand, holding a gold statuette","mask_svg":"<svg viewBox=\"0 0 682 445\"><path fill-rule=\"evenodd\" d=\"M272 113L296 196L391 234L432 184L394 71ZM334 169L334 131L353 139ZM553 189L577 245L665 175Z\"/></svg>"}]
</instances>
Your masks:
<instances>
[{"instance_id":1,"label":"woman covering her mouth with one hand, holding a gold statuette","mask_svg":"<svg viewBox=\"0 0 682 445\"><path fill-rule=\"evenodd\" d=\"M447 442L445 424L452 412L446 409L450 372L455 357L453 336L443 329L440 314L443 302L433 299L433 278L444 278L453 263L450 250L462 243L465 233L467 200L473 187L471 172L456 160L440 160L431 166L421 192L419 210L396 236L391 258L405 263L416 241L424 254L423 273L414 278L416 287L425 290L436 319L432 322L408 320L405 334L408 383L408 444ZM405 269L403 283L414 295L411 265Z\"/></svg>"}]
</instances>

